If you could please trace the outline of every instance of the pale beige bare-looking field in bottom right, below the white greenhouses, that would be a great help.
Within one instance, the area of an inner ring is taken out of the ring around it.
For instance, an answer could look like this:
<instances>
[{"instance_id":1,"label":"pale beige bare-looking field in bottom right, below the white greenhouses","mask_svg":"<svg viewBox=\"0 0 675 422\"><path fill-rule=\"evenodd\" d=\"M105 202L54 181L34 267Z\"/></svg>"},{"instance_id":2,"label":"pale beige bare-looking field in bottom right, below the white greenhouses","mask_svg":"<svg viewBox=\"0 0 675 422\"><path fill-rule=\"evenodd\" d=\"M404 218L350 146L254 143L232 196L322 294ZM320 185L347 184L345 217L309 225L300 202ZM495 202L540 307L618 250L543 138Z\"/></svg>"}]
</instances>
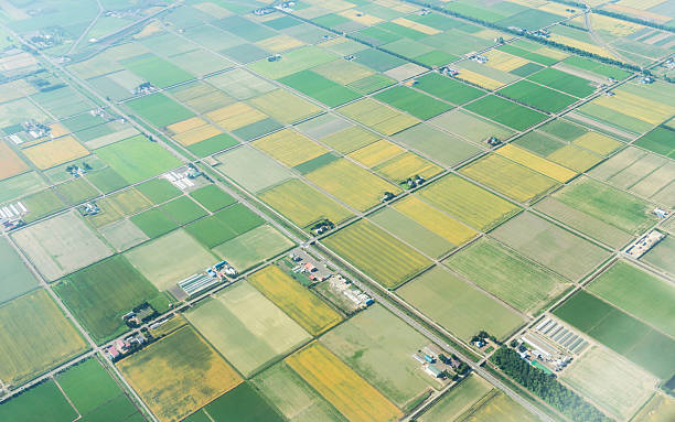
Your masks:
<instances>
[{"instance_id":1,"label":"pale beige bare-looking field in bottom right, below the white greenhouses","mask_svg":"<svg viewBox=\"0 0 675 422\"><path fill-rule=\"evenodd\" d=\"M599 347L576 360L562 380L618 420L633 415L656 385L646 371Z\"/></svg>"}]
</instances>

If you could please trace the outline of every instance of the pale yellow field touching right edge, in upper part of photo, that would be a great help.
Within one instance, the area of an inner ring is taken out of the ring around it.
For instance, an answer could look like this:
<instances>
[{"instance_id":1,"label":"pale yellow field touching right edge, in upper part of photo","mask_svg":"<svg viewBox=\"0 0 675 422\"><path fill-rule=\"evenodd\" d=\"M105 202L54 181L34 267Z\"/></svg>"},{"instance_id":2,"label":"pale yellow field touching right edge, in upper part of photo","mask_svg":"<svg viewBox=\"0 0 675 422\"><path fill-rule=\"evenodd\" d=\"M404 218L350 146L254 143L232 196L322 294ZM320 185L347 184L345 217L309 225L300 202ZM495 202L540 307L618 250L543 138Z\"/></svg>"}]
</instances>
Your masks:
<instances>
[{"instance_id":1,"label":"pale yellow field touching right edge, in upper part of photo","mask_svg":"<svg viewBox=\"0 0 675 422\"><path fill-rule=\"evenodd\" d=\"M598 97L593 100L593 104L634 117L635 119L646 121L654 126L663 123L675 113L675 108L645 97L621 89L617 89L614 94L613 97Z\"/></svg>"}]
</instances>

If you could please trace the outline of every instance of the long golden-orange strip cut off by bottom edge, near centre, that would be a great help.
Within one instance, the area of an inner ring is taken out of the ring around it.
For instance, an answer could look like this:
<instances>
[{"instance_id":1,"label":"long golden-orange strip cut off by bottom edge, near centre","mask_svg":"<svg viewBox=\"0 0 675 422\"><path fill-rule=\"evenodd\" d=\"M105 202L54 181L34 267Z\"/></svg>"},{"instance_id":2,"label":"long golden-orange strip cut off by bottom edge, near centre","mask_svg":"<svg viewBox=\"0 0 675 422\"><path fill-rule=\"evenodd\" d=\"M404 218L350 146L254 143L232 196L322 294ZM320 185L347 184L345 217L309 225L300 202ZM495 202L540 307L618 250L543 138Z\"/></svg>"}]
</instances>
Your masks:
<instances>
[{"instance_id":1,"label":"long golden-orange strip cut off by bottom edge, near centre","mask_svg":"<svg viewBox=\"0 0 675 422\"><path fill-rule=\"evenodd\" d=\"M388 422L403 412L319 343L286 363L350 421Z\"/></svg>"}]
</instances>

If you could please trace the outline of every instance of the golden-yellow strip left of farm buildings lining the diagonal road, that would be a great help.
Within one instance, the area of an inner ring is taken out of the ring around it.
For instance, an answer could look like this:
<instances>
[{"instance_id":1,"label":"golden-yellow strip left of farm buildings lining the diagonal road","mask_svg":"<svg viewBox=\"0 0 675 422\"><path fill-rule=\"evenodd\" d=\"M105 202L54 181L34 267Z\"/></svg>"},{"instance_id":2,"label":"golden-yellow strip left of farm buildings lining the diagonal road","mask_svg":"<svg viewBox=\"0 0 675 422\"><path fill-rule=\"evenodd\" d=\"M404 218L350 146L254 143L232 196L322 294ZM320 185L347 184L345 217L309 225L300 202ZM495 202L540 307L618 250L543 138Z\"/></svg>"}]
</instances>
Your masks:
<instances>
[{"instance_id":1,"label":"golden-yellow strip left of farm buildings lining the diagonal road","mask_svg":"<svg viewBox=\"0 0 675 422\"><path fill-rule=\"evenodd\" d=\"M256 271L248 281L313 336L342 321L336 311L275 264Z\"/></svg>"}]
</instances>

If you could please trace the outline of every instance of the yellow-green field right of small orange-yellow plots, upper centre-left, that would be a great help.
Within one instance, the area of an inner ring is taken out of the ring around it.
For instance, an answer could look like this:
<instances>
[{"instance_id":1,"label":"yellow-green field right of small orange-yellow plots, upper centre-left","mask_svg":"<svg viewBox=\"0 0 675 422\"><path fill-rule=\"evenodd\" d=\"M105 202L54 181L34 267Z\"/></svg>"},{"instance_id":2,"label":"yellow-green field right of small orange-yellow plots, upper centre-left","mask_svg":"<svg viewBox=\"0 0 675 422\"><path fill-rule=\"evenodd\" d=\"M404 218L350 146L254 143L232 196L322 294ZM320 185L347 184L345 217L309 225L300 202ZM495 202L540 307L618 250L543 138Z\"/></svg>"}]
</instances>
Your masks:
<instances>
[{"instance_id":1,"label":"yellow-green field right of small orange-yellow plots, upper centre-left","mask_svg":"<svg viewBox=\"0 0 675 422\"><path fill-rule=\"evenodd\" d=\"M262 94L251 99L250 104L285 125L293 123L321 111L320 107L286 89Z\"/></svg>"}]
</instances>

